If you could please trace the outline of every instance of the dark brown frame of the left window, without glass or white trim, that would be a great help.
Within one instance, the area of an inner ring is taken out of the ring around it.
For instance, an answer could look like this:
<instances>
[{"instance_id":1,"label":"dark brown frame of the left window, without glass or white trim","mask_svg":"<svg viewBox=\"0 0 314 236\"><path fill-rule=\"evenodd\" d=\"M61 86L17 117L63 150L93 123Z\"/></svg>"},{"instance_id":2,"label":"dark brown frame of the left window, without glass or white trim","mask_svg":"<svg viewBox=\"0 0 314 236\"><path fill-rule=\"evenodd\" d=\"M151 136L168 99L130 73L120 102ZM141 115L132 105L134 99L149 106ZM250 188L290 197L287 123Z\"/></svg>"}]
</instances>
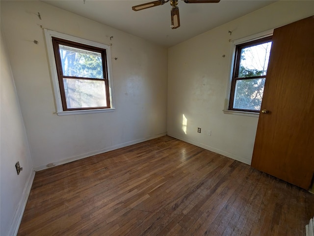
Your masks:
<instances>
[{"instance_id":1,"label":"dark brown frame of the left window, without glass or white trim","mask_svg":"<svg viewBox=\"0 0 314 236\"><path fill-rule=\"evenodd\" d=\"M76 77L76 76L63 75L59 45L76 47L78 49L84 49L84 50L101 53L104 78L88 78L88 77ZM60 39L56 37L52 37L52 47L53 47L53 54L54 54L54 60L55 60L55 66L56 66L57 79L58 79L58 84L59 84L62 110L63 111L84 111L84 110L110 109L111 101L110 101L110 94L109 94L109 80L108 80L109 75L108 75L108 68L107 68L106 49L100 48L100 47L94 47L94 46L90 46L86 44L81 44L81 43L73 42L70 40ZM68 108L67 102L66 102L66 95L65 95L66 93L64 89L63 78L103 81L105 83L105 99L106 99L107 106Z\"/></svg>"}]
</instances>

